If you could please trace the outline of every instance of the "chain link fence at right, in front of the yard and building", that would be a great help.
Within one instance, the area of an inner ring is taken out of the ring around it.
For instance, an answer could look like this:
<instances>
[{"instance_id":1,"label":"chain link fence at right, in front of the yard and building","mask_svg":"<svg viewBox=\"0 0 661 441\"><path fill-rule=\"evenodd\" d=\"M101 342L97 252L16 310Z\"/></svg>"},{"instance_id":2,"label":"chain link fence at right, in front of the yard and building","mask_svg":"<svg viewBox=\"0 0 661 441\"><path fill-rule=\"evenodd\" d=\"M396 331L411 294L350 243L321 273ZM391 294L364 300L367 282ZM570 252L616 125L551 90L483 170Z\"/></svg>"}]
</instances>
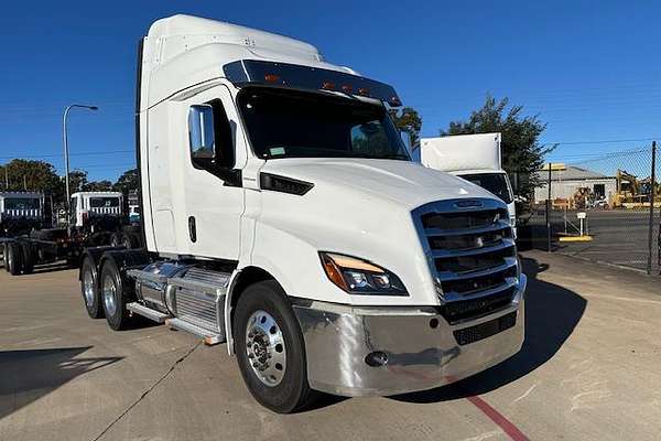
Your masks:
<instances>
[{"instance_id":1,"label":"chain link fence at right, in front of the yard and building","mask_svg":"<svg viewBox=\"0 0 661 441\"><path fill-rule=\"evenodd\" d=\"M655 143L545 164L519 213L522 248L661 271L661 185ZM516 179L514 179L516 180Z\"/></svg>"}]
</instances>

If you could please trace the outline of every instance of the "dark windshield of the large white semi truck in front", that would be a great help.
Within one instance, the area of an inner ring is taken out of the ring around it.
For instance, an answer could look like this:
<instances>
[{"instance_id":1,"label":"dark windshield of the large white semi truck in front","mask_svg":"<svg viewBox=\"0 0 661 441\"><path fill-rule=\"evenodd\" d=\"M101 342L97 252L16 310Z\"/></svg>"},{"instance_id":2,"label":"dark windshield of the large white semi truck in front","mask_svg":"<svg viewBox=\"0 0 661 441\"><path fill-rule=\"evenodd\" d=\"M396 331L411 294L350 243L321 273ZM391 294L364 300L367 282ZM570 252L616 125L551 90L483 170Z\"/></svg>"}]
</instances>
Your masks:
<instances>
[{"instance_id":1,"label":"dark windshield of the large white semi truck in front","mask_svg":"<svg viewBox=\"0 0 661 441\"><path fill-rule=\"evenodd\" d=\"M239 108L254 153L275 158L372 158L410 161L386 109L357 98L250 88Z\"/></svg>"}]
</instances>

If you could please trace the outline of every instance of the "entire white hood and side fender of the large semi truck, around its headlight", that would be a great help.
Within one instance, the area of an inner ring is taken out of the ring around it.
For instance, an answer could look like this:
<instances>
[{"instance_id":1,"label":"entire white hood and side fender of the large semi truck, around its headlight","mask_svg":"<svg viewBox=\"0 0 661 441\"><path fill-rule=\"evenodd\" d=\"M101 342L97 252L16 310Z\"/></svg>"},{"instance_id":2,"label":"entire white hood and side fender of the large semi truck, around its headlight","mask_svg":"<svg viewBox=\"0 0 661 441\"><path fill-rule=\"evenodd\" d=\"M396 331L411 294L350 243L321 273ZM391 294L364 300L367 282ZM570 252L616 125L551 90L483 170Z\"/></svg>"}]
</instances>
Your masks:
<instances>
[{"instance_id":1,"label":"entire white hood and side fender of the large semi truck, around its headlight","mask_svg":"<svg viewBox=\"0 0 661 441\"><path fill-rule=\"evenodd\" d=\"M278 159L261 172L314 187L303 196L264 191L259 208L247 209L257 224L252 265L272 273L290 295L354 305L438 304L412 211L435 201L494 198L468 181L405 161ZM328 281L318 251L381 266L409 295L349 295Z\"/></svg>"}]
</instances>

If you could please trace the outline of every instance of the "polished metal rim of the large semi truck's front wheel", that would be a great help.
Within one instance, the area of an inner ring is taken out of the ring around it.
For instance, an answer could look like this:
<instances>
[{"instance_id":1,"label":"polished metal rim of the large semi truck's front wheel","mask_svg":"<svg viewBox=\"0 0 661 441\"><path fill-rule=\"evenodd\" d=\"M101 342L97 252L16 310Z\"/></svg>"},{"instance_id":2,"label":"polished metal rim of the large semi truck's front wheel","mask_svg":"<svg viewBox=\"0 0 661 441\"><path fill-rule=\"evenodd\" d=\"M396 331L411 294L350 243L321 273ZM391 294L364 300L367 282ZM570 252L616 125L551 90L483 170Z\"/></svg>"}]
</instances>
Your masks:
<instances>
[{"instance_id":1,"label":"polished metal rim of the large semi truck's front wheel","mask_svg":"<svg viewBox=\"0 0 661 441\"><path fill-rule=\"evenodd\" d=\"M286 370L286 348L280 325L266 311L256 311L246 325L246 354L252 372L267 386L278 386Z\"/></svg>"}]
</instances>

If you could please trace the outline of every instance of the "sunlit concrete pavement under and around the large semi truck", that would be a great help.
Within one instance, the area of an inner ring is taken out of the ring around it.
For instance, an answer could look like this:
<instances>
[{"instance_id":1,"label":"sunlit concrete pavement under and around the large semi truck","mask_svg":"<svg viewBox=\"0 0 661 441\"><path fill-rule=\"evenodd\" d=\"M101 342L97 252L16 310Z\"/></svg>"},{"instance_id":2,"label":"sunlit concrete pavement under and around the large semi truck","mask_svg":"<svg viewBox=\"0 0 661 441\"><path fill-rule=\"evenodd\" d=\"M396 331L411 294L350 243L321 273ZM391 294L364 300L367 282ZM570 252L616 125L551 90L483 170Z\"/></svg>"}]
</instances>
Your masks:
<instances>
[{"instance_id":1,"label":"sunlit concrete pavement under and around the large semi truck","mask_svg":"<svg viewBox=\"0 0 661 441\"><path fill-rule=\"evenodd\" d=\"M655 440L661 279L523 255L520 354L457 385L326 398L274 415L225 345L165 326L112 332L77 273L0 272L0 440Z\"/></svg>"}]
</instances>

